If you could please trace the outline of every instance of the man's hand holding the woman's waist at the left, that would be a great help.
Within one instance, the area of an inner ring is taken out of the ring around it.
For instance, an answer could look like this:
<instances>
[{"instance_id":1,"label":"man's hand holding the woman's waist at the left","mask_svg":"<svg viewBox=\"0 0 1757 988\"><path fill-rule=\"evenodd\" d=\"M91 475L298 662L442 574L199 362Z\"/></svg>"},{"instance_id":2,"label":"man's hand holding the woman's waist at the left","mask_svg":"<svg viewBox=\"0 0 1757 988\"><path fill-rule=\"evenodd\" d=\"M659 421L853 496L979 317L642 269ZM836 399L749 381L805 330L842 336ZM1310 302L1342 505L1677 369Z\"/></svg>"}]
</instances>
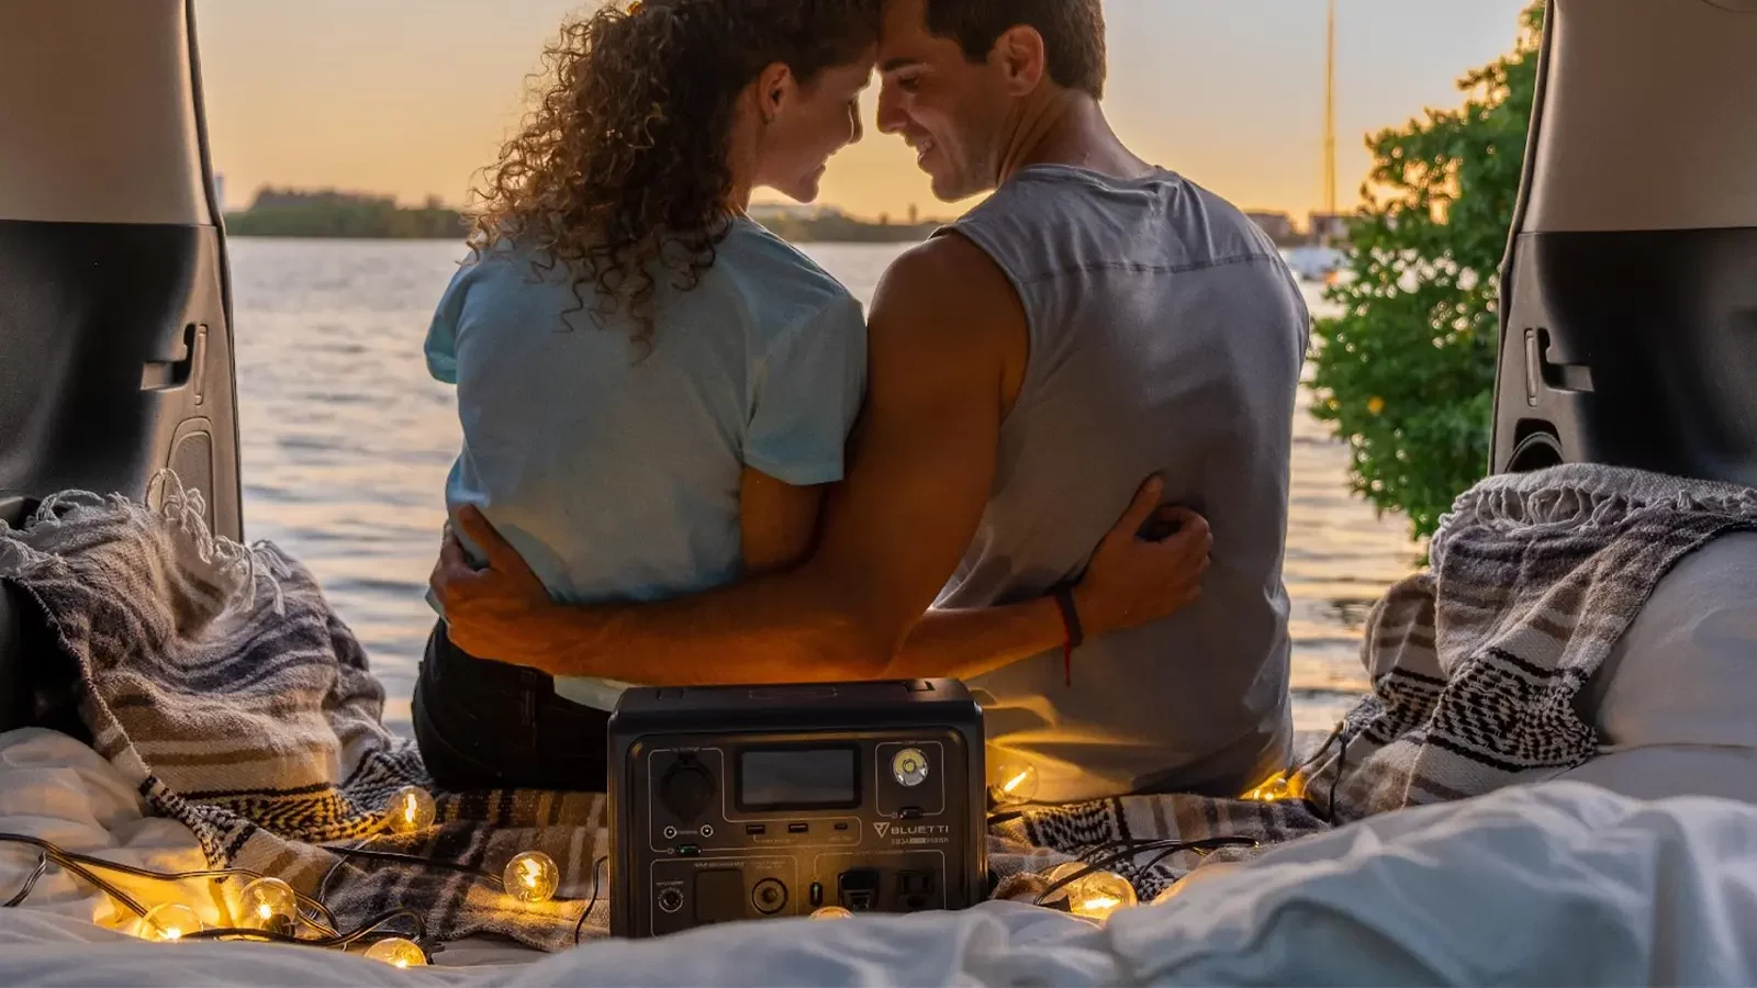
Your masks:
<instances>
[{"instance_id":1,"label":"man's hand holding the woman's waist at the left","mask_svg":"<svg viewBox=\"0 0 1757 988\"><path fill-rule=\"evenodd\" d=\"M474 506L459 508L452 524L488 557L485 570L471 566L446 527L429 584L445 608L452 643L481 659L543 668L546 650L532 636L536 617L553 607L543 580Z\"/></svg>"}]
</instances>

